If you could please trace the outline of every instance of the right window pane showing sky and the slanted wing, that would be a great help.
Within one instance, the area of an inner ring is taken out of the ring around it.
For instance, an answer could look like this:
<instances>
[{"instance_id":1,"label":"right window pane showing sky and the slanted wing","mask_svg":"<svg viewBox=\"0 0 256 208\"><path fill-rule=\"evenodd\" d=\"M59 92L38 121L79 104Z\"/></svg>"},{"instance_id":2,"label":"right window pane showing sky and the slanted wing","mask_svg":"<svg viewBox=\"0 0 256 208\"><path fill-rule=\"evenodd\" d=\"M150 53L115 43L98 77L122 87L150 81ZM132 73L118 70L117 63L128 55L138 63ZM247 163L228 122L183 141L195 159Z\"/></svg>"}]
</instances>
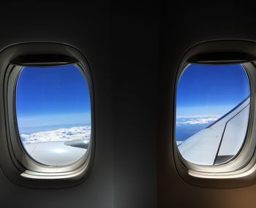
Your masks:
<instances>
[{"instance_id":1,"label":"right window pane showing sky and the slanted wing","mask_svg":"<svg viewBox=\"0 0 256 208\"><path fill-rule=\"evenodd\" d=\"M176 96L176 144L197 165L231 161L246 138L249 78L241 64L189 64Z\"/></svg>"}]
</instances>

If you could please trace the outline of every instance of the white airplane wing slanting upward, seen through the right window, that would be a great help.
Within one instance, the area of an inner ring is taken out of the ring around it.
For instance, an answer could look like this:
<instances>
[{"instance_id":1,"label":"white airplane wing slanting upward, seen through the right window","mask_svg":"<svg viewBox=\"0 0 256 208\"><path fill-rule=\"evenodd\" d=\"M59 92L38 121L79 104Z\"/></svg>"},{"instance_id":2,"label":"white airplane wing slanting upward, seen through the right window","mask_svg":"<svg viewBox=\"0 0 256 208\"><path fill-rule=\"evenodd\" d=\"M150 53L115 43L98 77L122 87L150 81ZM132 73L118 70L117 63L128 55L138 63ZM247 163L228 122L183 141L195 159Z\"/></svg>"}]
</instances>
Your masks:
<instances>
[{"instance_id":1,"label":"white airplane wing slanting upward, seen through the right window","mask_svg":"<svg viewBox=\"0 0 256 208\"><path fill-rule=\"evenodd\" d=\"M177 141L181 155L191 163L217 165L229 161L243 145L250 98L184 142Z\"/></svg>"}]
</instances>

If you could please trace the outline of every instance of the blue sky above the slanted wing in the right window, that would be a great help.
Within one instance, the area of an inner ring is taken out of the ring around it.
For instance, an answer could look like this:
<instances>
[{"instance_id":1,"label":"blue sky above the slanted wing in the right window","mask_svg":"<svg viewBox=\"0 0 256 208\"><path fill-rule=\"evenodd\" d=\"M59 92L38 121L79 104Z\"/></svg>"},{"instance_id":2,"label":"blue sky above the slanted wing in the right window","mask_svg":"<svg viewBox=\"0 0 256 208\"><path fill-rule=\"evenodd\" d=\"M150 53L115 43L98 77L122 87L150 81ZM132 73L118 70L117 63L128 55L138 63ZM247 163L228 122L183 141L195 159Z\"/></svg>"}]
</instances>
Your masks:
<instances>
[{"instance_id":1,"label":"blue sky above the slanted wing in the right window","mask_svg":"<svg viewBox=\"0 0 256 208\"><path fill-rule=\"evenodd\" d=\"M224 115L249 96L241 64L191 64L178 82L176 116Z\"/></svg>"}]
</instances>

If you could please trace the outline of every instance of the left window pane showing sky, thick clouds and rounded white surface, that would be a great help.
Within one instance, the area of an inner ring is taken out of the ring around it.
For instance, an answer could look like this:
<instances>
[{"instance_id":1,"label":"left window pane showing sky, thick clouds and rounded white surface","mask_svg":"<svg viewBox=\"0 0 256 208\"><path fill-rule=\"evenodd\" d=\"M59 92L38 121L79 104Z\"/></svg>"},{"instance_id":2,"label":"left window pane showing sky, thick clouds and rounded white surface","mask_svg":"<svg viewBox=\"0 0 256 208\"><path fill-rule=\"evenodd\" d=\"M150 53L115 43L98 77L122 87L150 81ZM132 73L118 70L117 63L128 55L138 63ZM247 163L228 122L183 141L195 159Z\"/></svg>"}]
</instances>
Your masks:
<instances>
[{"instance_id":1,"label":"left window pane showing sky, thick clouds and rounded white surface","mask_svg":"<svg viewBox=\"0 0 256 208\"><path fill-rule=\"evenodd\" d=\"M90 93L77 66L23 67L15 104L20 141L34 161L65 166L85 155L91 137Z\"/></svg>"}]
</instances>

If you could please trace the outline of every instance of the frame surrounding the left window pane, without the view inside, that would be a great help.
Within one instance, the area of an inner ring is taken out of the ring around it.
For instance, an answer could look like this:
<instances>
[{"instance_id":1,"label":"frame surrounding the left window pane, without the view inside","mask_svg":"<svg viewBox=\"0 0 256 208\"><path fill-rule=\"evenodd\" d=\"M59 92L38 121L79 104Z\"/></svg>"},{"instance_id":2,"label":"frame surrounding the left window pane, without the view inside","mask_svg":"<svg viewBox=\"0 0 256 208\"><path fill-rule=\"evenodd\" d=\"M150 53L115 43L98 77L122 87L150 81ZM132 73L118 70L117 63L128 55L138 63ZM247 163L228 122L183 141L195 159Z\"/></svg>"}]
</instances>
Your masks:
<instances>
[{"instance_id":1,"label":"frame surrounding the left window pane, without the view inside","mask_svg":"<svg viewBox=\"0 0 256 208\"><path fill-rule=\"evenodd\" d=\"M53 58L52 58L53 57ZM44 60L45 58L45 60ZM45 62L44 62L45 61ZM15 109L18 77L24 66L75 65L85 77L91 100L91 139L86 153L65 166L38 163L26 153L20 141ZM94 161L94 89L91 69L77 48L53 42L30 42L12 45L0 53L0 163L4 174L18 185L34 188L62 188L86 180Z\"/></svg>"}]
</instances>

